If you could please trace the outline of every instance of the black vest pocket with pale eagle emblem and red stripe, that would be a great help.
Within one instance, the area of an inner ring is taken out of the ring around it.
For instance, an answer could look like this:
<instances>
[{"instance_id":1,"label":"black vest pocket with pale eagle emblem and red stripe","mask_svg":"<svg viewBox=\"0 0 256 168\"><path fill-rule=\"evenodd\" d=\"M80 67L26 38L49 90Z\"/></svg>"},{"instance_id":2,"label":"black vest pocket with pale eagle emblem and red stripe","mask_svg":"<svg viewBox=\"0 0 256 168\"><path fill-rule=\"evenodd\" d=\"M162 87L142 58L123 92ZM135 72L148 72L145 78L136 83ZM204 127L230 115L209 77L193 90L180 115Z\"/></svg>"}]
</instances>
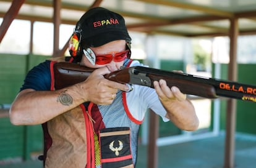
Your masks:
<instances>
[{"instance_id":1,"label":"black vest pocket with pale eagle emblem and red stripe","mask_svg":"<svg viewBox=\"0 0 256 168\"><path fill-rule=\"evenodd\" d=\"M129 127L101 129L99 135L102 168L134 167Z\"/></svg>"}]
</instances>

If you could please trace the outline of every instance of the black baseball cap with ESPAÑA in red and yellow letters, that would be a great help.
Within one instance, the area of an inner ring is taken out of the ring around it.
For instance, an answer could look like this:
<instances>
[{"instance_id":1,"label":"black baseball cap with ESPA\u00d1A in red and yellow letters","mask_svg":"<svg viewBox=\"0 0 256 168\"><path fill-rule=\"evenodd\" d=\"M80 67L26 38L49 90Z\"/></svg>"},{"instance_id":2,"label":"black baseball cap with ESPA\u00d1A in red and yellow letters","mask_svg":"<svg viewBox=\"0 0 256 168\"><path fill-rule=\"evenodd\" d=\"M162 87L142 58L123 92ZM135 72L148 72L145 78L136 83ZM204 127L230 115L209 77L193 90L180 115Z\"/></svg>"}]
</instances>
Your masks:
<instances>
[{"instance_id":1,"label":"black baseball cap with ESPA\u00d1A in red and yellow letters","mask_svg":"<svg viewBox=\"0 0 256 168\"><path fill-rule=\"evenodd\" d=\"M98 47L119 39L128 42L132 40L124 18L103 7L95 7L85 12L75 29L80 31L82 47Z\"/></svg>"}]
</instances>

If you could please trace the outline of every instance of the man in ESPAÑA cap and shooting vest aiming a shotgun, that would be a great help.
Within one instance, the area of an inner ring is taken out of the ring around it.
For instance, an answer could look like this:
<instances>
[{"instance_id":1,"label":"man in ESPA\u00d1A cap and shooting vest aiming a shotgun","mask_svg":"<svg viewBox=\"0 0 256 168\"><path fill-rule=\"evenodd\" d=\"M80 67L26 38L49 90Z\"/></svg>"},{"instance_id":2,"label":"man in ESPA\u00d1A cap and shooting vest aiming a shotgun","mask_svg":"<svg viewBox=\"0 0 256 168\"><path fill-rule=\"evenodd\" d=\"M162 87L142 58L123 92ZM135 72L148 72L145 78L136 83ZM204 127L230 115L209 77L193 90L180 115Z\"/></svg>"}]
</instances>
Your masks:
<instances>
[{"instance_id":1,"label":"man in ESPA\u00d1A cap and shooting vest aiming a shotgun","mask_svg":"<svg viewBox=\"0 0 256 168\"><path fill-rule=\"evenodd\" d=\"M126 92L125 84L104 78L121 66L141 65L129 59L130 41L124 18L96 7L77 22L69 45L69 62L97 68L85 81L56 89L49 60L28 73L10 118L15 125L43 125L45 167L134 167L148 108L180 129L197 129L192 103L163 79L154 81L155 89Z\"/></svg>"}]
</instances>

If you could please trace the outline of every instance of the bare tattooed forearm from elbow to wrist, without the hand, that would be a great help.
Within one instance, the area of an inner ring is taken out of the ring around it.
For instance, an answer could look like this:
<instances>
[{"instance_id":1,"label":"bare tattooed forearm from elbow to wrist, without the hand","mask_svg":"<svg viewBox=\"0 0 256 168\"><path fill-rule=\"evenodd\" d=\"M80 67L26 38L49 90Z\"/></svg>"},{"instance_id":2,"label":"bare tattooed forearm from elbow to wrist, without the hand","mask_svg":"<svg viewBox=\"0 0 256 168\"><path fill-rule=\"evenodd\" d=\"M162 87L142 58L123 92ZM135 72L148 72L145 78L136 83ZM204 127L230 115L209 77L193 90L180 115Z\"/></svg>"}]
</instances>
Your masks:
<instances>
[{"instance_id":1,"label":"bare tattooed forearm from elbow to wrist, without the hand","mask_svg":"<svg viewBox=\"0 0 256 168\"><path fill-rule=\"evenodd\" d=\"M10 108L12 124L41 124L83 103L74 90L75 88L56 91L22 90Z\"/></svg>"}]
</instances>

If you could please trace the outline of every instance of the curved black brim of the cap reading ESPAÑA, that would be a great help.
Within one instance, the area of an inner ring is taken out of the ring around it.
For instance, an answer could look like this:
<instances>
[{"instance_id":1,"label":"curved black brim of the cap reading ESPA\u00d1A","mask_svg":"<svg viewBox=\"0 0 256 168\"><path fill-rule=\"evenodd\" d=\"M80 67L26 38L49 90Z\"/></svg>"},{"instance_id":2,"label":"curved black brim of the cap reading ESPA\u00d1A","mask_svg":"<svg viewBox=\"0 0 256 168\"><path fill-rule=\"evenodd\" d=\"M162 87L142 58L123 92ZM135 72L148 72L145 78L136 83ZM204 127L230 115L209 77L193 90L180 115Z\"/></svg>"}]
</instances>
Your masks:
<instances>
[{"instance_id":1,"label":"curved black brim of the cap reading ESPA\u00d1A","mask_svg":"<svg viewBox=\"0 0 256 168\"><path fill-rule=\"evenodd\" d=\"M116 41L124 39L126 41L131 41L129 34L122 31L109 31L108 33L97 34L96 36L91 36L89 38L83 39L83 42L89 47L99 47L107 44L111 41Z\"/></svg>"}]
</instances>

